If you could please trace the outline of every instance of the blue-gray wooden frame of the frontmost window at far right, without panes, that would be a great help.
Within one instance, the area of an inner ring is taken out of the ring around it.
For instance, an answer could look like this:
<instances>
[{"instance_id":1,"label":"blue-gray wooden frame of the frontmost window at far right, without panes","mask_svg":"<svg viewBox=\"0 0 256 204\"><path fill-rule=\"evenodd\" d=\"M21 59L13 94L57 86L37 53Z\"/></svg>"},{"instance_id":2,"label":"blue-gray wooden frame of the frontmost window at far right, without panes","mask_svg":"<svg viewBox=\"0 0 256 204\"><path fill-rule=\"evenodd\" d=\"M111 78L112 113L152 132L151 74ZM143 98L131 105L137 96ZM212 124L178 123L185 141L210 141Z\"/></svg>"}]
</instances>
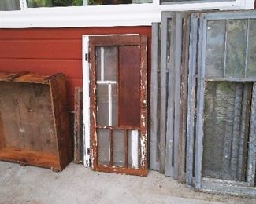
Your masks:
<instances>
[{"instance_id":1,"label":"blue-gray wooden frame of the frontmost window at far right, without panes","mask_svg":"<svg viewBox=\"0 0 256 204\"><path fill-rule=\"evenodd\" d=\"M256 193L256 188L254 184L255 179L255 166L256 161L253 158L254 154L256 154L256 140L255 136L251 129L254 130L256 126L255 121L255 106L256 106L256 78L207 78L206 77L206 35L207 35L207 21L208 20L242 20L242 19L256 19L255 12L223 12L223 13L194 13L191 15L191 27L198 26L198 82L197 86L197 104L196 106L196 114L191 117L195 117L195 188L200 189L202 191L222 191L231 192L232 194L237 195L254 195ZM198 23L199 21L199 23ZM196 47L194 46L192 49L196 51ZM193 59L190 59L193 60ZM193 69L194 70L194 69ZM190 74L191 78L195 78L195 75ZM253 83L253 91L252 91L252 104L251 104L251 113L250 113L250 135L249 135L249 146L248 146L248 165L247 165L247 181L240 182L234 180L219 180L206 178L202 176L202 150L203 150L203 112L204 112L204 96L205 96L205 88L206 82L254 82ZM194 86L194 89L195 86ZM189 137L194 137L194 133L191 133ZM251 165L249 165L251 164ZM192 165L192 163L191 163ZM250 166L252 166L250 168Z\"/></svg>"}]
</instances>

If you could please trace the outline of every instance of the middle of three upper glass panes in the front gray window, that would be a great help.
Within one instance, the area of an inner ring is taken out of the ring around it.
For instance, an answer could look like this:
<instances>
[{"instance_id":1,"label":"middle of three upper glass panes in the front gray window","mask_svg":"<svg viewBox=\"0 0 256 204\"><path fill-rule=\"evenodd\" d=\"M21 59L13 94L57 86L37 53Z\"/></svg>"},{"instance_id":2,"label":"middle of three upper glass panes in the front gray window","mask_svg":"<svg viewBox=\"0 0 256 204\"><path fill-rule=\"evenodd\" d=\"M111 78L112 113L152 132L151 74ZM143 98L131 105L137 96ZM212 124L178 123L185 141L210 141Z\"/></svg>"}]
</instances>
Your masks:
<instances>
[{"instance_id":1,"label":"middle of three upper glass panes in the front gray window","mask_svg":"<svg viewBox=\"0 0 256 204\"><path fill-rule=\"evenodd\" d=\"M247 20L228 20L227 77L244 77L247 46Z\"/></svg>"}]
</instances>

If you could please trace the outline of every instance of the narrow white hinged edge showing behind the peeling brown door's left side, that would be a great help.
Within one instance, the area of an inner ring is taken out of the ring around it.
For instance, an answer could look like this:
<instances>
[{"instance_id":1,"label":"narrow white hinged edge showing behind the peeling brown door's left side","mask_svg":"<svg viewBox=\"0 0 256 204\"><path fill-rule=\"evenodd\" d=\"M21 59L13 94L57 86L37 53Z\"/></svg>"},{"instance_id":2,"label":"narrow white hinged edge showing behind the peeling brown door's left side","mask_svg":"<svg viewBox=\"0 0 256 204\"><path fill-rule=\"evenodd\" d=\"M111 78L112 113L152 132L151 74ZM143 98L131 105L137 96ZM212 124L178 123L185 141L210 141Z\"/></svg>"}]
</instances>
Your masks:
<instances>
[{"instance_id":1,"label":"narrow white hinged edge showing behind the peeling brown door's left side","mask_svg":"<svg viewBox=\"0 0 256 204\"><path fill-rule=\"evenodd\" d=\"M90 154L91 150L90 140L90 78L89 78L89 62L85 59L85 55L89 53L89 36L83 35L83 163L84 166L90 167Z\"/></svg>"}]
</instances>

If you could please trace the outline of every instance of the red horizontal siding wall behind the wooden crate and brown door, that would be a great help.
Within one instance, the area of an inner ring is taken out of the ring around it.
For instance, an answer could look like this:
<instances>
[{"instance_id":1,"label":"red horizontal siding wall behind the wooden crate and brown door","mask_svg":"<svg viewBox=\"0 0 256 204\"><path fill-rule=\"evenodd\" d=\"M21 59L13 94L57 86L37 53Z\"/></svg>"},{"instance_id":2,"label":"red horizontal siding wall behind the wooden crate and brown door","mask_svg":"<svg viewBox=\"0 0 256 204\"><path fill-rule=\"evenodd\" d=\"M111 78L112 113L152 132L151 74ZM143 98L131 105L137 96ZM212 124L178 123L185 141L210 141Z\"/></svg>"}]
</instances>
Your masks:
<instances>
[{"instance_id":1,"label":"red horizontal siding wall behind the wooden crate and brown door","mask_svg":"<svg viewBox=\"0 0 256 204\"><path fill-rule=\"evenodd\" d=\"M73 110L74 87L82 86L82 35L129 33L147 35L150 46L151 27L0 29L0 71L64 73Z\"/></svg>"}]
</instances>

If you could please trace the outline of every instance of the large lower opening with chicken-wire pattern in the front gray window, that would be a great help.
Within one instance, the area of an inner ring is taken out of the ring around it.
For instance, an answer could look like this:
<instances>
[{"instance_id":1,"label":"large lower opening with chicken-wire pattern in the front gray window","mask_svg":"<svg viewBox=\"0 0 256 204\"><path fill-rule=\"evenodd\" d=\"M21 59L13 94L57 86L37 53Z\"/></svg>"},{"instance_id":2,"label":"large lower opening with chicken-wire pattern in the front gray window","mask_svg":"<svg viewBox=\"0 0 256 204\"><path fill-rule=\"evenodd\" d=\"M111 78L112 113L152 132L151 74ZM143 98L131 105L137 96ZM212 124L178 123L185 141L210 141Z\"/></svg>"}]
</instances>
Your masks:
<instances>
[{"instance_id":1,"label":"large lower opening with chicken-wire pattern in the front gray window","mask_svg":"<svg viewBox=\"0 0 256 204\"><path fill-rule=\"evenodd\" d=\"M250 83L206 83L203 177L245 180L250 96Z\"/></svg>"}]
</instances>

